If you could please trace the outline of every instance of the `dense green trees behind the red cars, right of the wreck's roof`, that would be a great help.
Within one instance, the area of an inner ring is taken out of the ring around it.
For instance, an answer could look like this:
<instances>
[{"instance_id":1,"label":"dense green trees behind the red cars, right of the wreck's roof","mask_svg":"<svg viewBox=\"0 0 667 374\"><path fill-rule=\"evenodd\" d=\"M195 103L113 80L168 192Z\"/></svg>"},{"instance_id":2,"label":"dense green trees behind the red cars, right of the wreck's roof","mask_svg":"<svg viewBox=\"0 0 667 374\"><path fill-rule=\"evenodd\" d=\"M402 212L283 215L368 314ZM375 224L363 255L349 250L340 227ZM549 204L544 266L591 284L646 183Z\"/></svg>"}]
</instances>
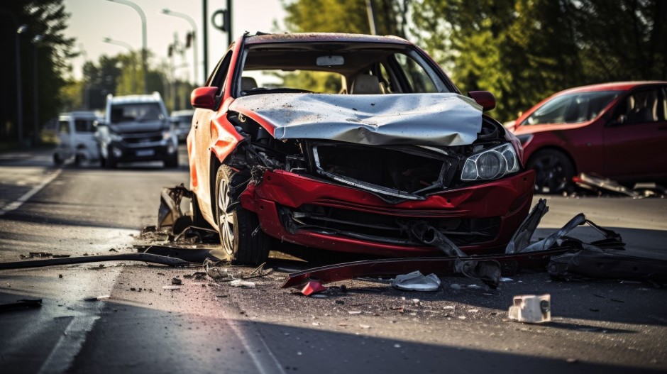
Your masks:
<instances>
[{"instance_id":1,"label":"dense green trees behind the red cars, right of the wreck's roof","mask_svg":"<svg viewBox=\"0 0 667 374\"><path fill-rule=\"evenodd\" d=\"M463 91L496 94L499 119L569 87L667 79L661 0L423 0L413 13Z\"/></svg>"}]
</instances>

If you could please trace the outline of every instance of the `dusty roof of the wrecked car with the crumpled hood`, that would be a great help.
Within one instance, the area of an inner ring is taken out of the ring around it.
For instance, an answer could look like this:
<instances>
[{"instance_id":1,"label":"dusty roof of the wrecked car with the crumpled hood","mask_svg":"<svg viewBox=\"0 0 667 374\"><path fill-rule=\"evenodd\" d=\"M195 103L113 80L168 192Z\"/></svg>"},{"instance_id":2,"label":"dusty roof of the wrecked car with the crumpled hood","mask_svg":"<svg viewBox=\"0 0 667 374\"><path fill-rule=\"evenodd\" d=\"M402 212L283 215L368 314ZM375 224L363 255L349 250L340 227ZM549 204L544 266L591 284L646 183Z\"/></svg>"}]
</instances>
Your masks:
<instances>
[{"instance_id":1,"label":"dusty roof of the wrecked car with the crumpled hood","mask_svg":"<svg viewBox=\"0 0 667 374\"><path fill-rule=\"evenodd\" d=\"M397 36L377 36L347 33L282 33L282 34L260 34L248 36L245 40L247 45L263 43L391 43L412 45L409 41Z\"/></svg>"}]
</instances>

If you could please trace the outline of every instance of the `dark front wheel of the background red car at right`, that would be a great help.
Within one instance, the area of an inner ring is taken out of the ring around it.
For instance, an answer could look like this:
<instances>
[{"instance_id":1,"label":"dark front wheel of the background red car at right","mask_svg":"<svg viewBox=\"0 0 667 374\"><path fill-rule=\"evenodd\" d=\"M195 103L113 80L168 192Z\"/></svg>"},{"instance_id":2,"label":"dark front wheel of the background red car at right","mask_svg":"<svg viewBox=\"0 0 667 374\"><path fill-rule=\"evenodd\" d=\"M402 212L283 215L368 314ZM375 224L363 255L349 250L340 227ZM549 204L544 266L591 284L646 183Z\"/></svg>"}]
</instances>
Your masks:
<instances>
[{"instance_id":1,"label":"dark front wheel of the background red car at right","mask_svg":"<svg viewBox=\"0 0 667 374\"><path fill-rule=\"evenodd\" d=\"M536 193L558 194L573 189L574 165L560 150L539 150L531 156L527 166L536 172Z\"/></svg>"}]
</instances>

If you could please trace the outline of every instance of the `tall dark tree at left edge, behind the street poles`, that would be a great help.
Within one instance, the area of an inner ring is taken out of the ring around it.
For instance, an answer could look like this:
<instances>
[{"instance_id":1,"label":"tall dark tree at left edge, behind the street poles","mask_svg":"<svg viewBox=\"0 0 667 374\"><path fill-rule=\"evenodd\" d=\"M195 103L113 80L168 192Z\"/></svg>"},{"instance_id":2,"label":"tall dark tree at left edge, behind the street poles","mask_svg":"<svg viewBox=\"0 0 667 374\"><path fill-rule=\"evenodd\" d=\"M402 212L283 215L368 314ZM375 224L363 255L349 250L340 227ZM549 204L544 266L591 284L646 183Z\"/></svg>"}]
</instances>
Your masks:
<instances>
[{"instance_id":1,"label":"tall dark tree at left edge, behind the street poles","mask_svg":"<svg viewBox=\"0 0 667 374\"><path fill-rule=\"evenodd\" d=\"M23 133L28 138L35 127L34 104L38 105L36 124L55 117L61 109L65 78L75 57L73 38L64 31L70 14L62 0L13 0L0 3L0 40L5 48L0 57L0 138L16 138L16 29L25 25L19 35L21 50L21 87L23 99ZM35 36L40 35L38 38ZM34 68L37 62L38 103L35 97ZM8 124L9 123L9 124Z\"/></svg>"}]
</instances>

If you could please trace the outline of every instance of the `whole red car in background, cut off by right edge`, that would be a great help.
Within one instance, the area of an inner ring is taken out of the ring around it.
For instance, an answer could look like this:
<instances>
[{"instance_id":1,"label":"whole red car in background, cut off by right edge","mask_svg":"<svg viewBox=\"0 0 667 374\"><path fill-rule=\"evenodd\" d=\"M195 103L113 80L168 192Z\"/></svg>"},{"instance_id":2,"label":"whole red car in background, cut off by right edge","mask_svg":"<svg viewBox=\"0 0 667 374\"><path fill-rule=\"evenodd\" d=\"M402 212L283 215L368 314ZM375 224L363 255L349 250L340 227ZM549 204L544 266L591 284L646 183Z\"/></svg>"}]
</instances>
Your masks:
<instances>
[{"instance_id":1,"label":"whole red car in background, cut off by right edge","mask_svg":"<svg viewBox=\"0 0 667 374\"><path fill-rule=\"evenodd\" d=\"M535 191L563 192L574 175L667 176L667 82L618 82L558 92L509 127L536 170Z\"/></svg>"}]
</instances>

